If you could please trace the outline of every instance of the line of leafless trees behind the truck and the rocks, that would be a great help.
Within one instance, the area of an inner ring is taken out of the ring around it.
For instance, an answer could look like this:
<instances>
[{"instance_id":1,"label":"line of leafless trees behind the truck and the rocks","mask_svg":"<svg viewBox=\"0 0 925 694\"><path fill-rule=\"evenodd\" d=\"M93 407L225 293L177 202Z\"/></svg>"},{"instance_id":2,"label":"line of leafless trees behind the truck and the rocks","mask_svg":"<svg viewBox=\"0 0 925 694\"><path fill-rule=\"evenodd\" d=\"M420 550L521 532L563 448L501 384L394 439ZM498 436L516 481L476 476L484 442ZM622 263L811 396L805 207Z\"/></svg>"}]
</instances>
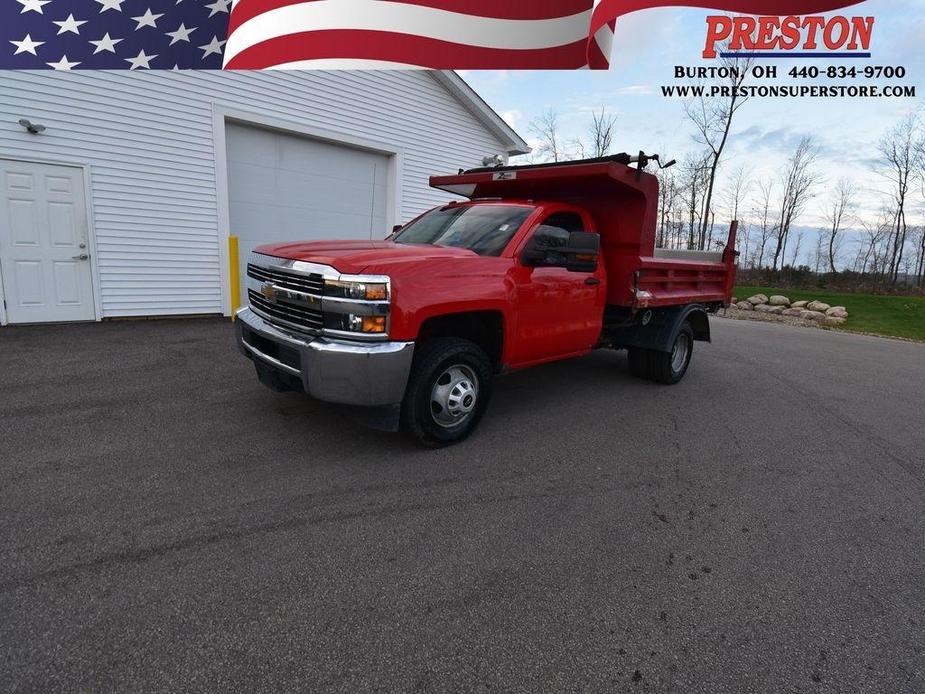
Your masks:
<instances>
[{"instance_id":1,"label":"line of leafless trees behind the truck and the rocks","mask_svg":"<svg viewBox=\"0 0 925 694\"><path fill-rule=\"evenodd\" d=\"M750 61L730 58L726 79L739 86ZM734 138L733 125L748 101L733 89L725 98L700 97L684 105L692 126L691 151L660 180L656 243L660 248L708 250L722 247L726 223L739 221L740 264L769 281L788 276L841 276L865 286L925 289L925 219L913 210L925 201L925 124L917 113L903 117L880 139L874 182L832 180L823 170L812 136L795 143L774 176L756 177L747 166L723 172ZM617 118L603 107L591 114L583 138L564 139L559 116L547 111L530 124L537 146L533 161L567 161L611 153ZM726 173L720 179L720 173ZM879 200L874 219L861 214L862 196ZM808 212L825 220L807 239L799 222ZM717 218L725 220L717 228ZM917 223L916 223L917 222ZM814 242L814 246L807 246ZM806 258L810 259L809 264Z\"/></svg>"}]
</instances>

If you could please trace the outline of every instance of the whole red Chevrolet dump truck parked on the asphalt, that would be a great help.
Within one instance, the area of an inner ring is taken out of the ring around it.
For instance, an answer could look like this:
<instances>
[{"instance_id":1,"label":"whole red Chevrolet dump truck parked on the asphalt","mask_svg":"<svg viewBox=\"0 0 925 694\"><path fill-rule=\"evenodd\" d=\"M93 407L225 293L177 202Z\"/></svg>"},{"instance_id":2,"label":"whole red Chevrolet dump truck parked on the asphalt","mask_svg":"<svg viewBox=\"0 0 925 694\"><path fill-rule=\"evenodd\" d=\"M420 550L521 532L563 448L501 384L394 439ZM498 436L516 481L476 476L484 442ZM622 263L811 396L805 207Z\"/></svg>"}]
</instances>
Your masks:
<instances>
[{"instance_id":1,"label":"whole red Chevrolet dump truck parked on the asphalt","mask_svg":"<svg viewBox=\"0 0 925 694\"><path fill-rule=\"evenodd\" d=\"M265 385L430 446L469 435L514 369L626 349L635 376L678 383L731 300L736 229L719 252L657 250L651 160L435 176L465 199L384 241L261 246L238 345Z\"/></svg>"}]
</instances>

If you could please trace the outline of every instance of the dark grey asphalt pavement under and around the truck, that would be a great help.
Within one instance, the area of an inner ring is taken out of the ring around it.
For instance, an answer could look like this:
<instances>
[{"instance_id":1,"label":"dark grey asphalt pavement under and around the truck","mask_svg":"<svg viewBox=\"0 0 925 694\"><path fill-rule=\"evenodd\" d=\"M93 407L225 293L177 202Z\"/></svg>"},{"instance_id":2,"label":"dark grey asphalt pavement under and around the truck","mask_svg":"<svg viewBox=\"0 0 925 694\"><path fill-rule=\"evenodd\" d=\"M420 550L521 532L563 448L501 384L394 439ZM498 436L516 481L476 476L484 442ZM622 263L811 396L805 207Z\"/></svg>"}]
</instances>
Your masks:
<instances>
[{"instance_id":1,"label":"dark grey asphalt pavement under and around the truck","mask_svg":"<svg viewBox=\"0 0 925 694\"><path fill-rule=\"evenodd\" d=\"M0 690L925 691L925 345L713 332L431 451L226 322L0 329Z\"/></svg>"}]
</instances>

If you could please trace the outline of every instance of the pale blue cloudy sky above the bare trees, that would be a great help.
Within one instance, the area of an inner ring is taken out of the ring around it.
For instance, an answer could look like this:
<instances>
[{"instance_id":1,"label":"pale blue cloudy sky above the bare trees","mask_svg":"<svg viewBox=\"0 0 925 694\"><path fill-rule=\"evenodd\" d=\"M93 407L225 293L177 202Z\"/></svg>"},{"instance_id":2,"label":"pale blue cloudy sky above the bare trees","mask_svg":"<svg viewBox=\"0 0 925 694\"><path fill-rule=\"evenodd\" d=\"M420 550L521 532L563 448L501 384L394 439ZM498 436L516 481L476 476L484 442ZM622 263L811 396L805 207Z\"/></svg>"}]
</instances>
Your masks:
<instances>
[{"instance_id":1,"label":"pale blue cloudy sky above the bare trees","mask_svg":"<svg viewBox=\"0 0 925 694\"><path fill-rule=\"evenodd\" d=\"M607 71L461 71L460 75L512 125L528 143L536 138L530 123L549 109L559 115L564 139L586 137L593 111L603 107L617 117L614 151L657 152L681 159L698 149L693 129L684 116L684 101L662 96L661 85L691 84L675 80L674 66L716 65L701 57L706 17L713 11L660 8L637 12L617 23ZM738 112L718 186L740 165L757 181L779 177L787 157L804 135L812 135L820 149L824 178L799 220L807 235L824 224L824 208L836 181L853 179L860 189L857 218L873 221L882 206L884 179L875 173L877 143L910 112L925 113L925 0L867 0L841 12L876 17L870 61L775 60L783 76L793 66L901 65L903 80L877 80L883 85L914 85L917 97L902 99L750 99ZM812 82L811 80L809 81ZM832 84L825 77L819 84ZM755 80L752 84L757 84ZM761 82L765 83L765 82ZM866 84L858 80L857 84ZM925 201L916 197L912 224L925 223ZM720 211L718 211L720 212ZM854 226L857 226L855 222ZM795 227L796 228L796 227ZM809 262L815 240L804 241L801 255ZM849 244L850 245L850 244ZM812 247L812 248L810 248ZM845 249L845 255L850 248Z\"/></svg>"}]
</instances>

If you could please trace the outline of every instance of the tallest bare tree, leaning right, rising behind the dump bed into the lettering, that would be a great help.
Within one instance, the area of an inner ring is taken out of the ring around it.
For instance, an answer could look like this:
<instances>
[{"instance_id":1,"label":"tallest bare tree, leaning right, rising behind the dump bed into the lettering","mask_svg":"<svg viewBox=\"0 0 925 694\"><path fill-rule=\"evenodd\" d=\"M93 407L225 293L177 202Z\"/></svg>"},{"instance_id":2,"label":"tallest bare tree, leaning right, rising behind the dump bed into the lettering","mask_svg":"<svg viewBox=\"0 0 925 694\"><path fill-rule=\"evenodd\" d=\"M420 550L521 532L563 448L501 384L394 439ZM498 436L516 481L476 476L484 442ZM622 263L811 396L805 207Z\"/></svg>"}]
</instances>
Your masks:
<instances>
[{"instance_id":1,"label":"tallest bare tree, leaning right, rising behind the dump bed into the lettering","mask_svg":"<svg viewBox=\"0 0 925 694\"><path fill-rule=\"evenodd\" d=\"M725 80L725 93L719 97L704 96L688 102L684 111L694 124L697 132L694 139L704 145L708 151L707 175L704 185L704 204L699 229L698 247L704 248L708 238L708 228L713 212L713 189L716 185L716 172L720 160L729 142L732 122L738 110L748 100L740 94L739 88L751 72L752 59L723 58L722 68L728 70Z\"/></svg>"}]
</instances>

